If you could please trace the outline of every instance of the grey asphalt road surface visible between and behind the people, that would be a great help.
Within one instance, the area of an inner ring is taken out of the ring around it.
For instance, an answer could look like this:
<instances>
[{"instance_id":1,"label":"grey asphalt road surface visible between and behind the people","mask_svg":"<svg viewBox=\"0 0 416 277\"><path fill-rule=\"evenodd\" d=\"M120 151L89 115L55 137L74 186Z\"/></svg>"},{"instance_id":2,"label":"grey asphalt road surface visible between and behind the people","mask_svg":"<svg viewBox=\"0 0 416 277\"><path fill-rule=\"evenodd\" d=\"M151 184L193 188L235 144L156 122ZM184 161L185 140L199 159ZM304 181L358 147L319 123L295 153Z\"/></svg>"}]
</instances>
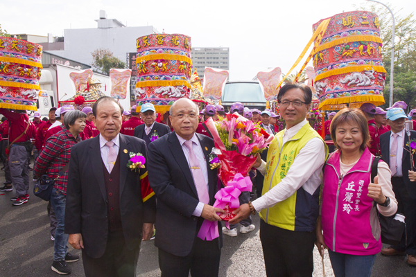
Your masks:
<instances>
[{"instance_id":1,"label":"grey asphalt road surface visible between and behind the people","mask_svg":"<svg viewBox=\"0 0 416 277\"><path fill-rule=\"evenodd\" d=\"M32 173L30 172L30 177ZM4 172L0 172L0 184ZM31 189L33 184L31 181ZM1 193L0 193L1 194ZM53 242L49 233L49 217L46 202L34 197L27 204L12 206L9 198L14 193L0 195L0 276L58 276L51 271ZM240 234L236 238L225 236L221 254L220 276L266 276L263 252L259 239L259 217L254 217L257 229L252 233ZM69 247L71 253L80 255ZM405 257L377 256L372 276L416 276L416 267L410 267ZM315 271L313 276L323 276L322 260L314 251ZM82 261L70 265L71 276L84 276ZM302 265L300 265L302 266ZM327 255L324 258L326 276L333 276ZM157 249L153 241L141 244L137 276L160 276Z\"/></svg>"}]
</instances>

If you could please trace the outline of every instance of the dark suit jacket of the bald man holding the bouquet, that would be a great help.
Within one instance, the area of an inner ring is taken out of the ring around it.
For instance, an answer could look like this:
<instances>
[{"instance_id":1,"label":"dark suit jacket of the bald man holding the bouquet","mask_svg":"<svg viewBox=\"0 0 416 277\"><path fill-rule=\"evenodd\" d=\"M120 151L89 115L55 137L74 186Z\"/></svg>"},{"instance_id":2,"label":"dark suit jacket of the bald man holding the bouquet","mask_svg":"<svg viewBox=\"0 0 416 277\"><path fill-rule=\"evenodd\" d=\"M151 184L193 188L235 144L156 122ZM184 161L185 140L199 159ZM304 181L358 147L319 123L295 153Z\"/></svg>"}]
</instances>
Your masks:
<instances>
[{"instance_id":1,"label":"dark suit jacket of the bald man holding the bouquet","mask_svg":"<svg viewBox=\"0 0 416 277\"><path fill-rule=\"evenodd\" d=\"M207 161L209 181L209 204L215 202L218 172L209 167L209 153L214 141L208 136L196 134ZM150 187L157 197L155 246L175 256L187 256L197 235L198 218L192 215L198 205L198 194L187 158L177 139L171 132L148 145L148 176ZM202 219L202 217L200 217ZM222 247L223 233L218 222L220 238L218 247Z\"/></svg>"}]
</instances>

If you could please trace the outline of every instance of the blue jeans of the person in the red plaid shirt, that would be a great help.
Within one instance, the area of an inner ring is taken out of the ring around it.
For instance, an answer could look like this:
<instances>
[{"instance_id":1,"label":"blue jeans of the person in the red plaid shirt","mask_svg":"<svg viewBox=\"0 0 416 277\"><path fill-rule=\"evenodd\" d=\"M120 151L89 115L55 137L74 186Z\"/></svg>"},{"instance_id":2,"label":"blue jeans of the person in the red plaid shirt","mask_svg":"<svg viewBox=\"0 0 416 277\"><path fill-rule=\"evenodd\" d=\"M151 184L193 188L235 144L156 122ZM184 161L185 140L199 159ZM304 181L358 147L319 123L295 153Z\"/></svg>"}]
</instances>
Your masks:
<instances>
[{"instance_id":1,"label":"blue jeans of the person in the red plaid shirt","mask_svg":"<svg viewBox=\"0 0 416 277\"><path fill-rule=\"evenodd\" d=\"M65 259L68 251L68 234L64 233L65 204L67 197L56 188L52 189L51 204L55 211L58 225L55 231L55 243L53 244L53 260L60 261Z\"/></svg>"}]
</instances>

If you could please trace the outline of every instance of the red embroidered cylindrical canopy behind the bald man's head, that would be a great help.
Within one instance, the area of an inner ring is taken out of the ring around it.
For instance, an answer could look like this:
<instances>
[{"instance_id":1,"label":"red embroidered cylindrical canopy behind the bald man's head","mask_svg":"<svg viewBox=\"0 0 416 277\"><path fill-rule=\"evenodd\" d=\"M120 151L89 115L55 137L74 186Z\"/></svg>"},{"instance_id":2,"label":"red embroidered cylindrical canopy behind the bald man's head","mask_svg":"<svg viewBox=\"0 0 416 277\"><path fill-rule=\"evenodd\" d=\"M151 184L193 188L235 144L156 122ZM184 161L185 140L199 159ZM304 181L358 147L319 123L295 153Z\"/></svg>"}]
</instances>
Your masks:
<instances>
[{"instance_id":1,"label":"red embroidered cylindrical canopy behind the bald man's head","mask_svg":"<svg viewBox=\"0 0 416 277\"><path fill-rule=\"evenodd\" d=\"M139 37L137 48L137 110L146 102L157 112L169 110L180 98L188 98L192 70L191 37L153 34Z\"/></svg>"}]
</instances>

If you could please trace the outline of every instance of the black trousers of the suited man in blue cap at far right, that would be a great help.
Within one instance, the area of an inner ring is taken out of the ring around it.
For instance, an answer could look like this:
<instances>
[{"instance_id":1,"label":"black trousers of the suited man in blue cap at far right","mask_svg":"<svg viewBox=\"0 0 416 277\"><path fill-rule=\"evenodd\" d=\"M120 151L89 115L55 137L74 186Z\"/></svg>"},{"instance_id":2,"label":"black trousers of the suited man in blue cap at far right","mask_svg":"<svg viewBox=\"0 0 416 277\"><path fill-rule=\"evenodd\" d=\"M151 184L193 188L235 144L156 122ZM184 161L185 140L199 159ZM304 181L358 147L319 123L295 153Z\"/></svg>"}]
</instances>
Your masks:
<instances>
[{"instance_id":1,"label":"black trousers of the suited man in blue cap at far right","mask_svg":"<svg viewBox=\"0 0 416 277\"><path fill-rule=\"evenodd\" d=\"M392 177L393 192L397 199L397 213L403 213L406 217L406 233L401 242L392 246L397 251L406 251L410 255L416 255L416 199L410 198L403 177ZM407 242L406 242L407 234Z\"/></svg>"}]
</instances>

